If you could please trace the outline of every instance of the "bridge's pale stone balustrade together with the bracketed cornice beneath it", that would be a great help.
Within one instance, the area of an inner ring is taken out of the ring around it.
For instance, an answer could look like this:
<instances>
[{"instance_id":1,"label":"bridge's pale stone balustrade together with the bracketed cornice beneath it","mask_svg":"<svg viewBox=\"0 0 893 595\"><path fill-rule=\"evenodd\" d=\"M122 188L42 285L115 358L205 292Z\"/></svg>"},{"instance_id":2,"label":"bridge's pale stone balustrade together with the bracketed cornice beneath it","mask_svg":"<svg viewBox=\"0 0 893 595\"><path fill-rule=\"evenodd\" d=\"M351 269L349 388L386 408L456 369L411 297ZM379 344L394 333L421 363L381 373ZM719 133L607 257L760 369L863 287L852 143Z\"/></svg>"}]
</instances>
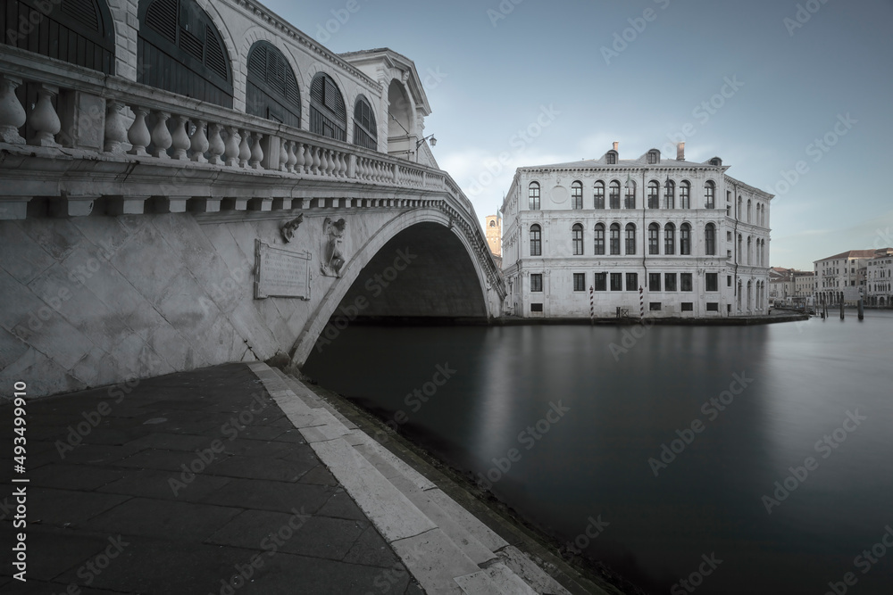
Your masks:
<instances>
[{"instance_id":1,"label":"bridge's pale stone balustrade together with the bracketed cornice beneath it","mask_svg":"<svg viewBox=\"0 0 893 595\"><path fill-rule=\"evenodd\" d=\"M22 86L34 90L33 104L21 103ZM146 183L118 181L136 172ZM63 217L89 215L97 201L109 215L434 207L502 285L471 202L443 170L9 46L0 177L10 179L0 185L0 219L25 219L35 197ZM296 188L312 191L296 197Z\"/></svg>"}]
</instances>

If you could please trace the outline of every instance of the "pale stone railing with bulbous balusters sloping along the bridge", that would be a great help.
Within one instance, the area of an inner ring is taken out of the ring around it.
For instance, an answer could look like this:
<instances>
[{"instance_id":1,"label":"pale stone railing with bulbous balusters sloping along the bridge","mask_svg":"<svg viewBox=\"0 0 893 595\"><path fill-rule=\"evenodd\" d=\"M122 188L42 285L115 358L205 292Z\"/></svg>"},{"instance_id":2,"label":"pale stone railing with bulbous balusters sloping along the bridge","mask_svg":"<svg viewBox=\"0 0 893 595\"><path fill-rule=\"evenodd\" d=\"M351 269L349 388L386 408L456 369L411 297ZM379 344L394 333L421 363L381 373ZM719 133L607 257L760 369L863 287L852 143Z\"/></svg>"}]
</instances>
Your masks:
<instances>
[{"instance_id":1,"label":"pale stone railing with bulbous balusters sloping along the bridge","mask_svg":"<svg viewBox=\"0 0 893 595\"><path fill-rule=\"evenodd\" d=\"M294 183L288 184L288 179L305 178L321 183L331 181L411 190L414 192L399 193L406 197L403 199L356 201L354 206L361 203L368 206L436 204L451 219L462 222L463 232L472 242L474 251L488 263L485 268L496 270L471 202L443 170L127 79L106 76L8 45L0 45L0 54L3 55L0 62L0 150L20 158L20 161L0 159L0 178L14 175L4 172L4 167L21 165L21 160L29 156L93 162L92 165L84 164L81 170L99 167L96 165L99 162L104 165L102 171L106 178L110 171L123 173L135 164L144 169L152 164L164 166L165 172L174 167L190 172L186 178L196 182L194 186L222 174L229 178L236 174L238 178L239 173L244 173L265 186L293 187ZM28 98L27 105L23 105L16 95L16 89L21 86L27 89L24 94ZM20 130L24 131L24 137ZM54 171L51 166L47 169ZM78 184L83 186L80 190L74 187ZM71 205L64 215L84 215L92 210L93 202L89 199L100 198L104 191L91 192L90 184L89 176L66 182ZM22 192L22 188L28 185L13 186L15 189L11 191L0 185L0 207L4 207L0 209L0 219L26 216L29 196ZM143 202L150 197L146 196L145 187L137 186L134 185L132 190L127 185L115 187L115 194L142 194L131 200L129 210L123 212L143 212ZM185 188L181 197L164 197L169 211L186 211L186 203L194 200L189 195L190 190ZM10 192L18 196L10 196ZM72 201L71 197L76 194L85 194L84 200ZM413 196L421 196L423 200L413 200L410 198ZM20 202L16 203L17 200ZM120 195L117 200L121 201ZM87 202L88 209L78 206ZM260 208L269 209L273 202L263 202ZM200 210L244 210L246 203L247 200L222 203L218 200ZM491 281L501 285L498 274L491 277Z\"/></svg>"}]
</instances>

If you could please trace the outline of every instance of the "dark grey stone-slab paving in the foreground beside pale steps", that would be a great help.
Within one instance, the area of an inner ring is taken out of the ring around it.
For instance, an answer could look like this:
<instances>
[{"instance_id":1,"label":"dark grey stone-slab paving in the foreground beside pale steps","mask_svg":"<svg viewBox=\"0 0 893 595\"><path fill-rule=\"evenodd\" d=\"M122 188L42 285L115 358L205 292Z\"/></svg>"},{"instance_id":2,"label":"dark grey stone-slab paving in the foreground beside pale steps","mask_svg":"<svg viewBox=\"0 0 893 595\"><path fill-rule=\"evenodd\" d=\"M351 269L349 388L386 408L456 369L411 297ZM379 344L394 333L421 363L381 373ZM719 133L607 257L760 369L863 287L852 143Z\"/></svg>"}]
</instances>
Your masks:
<instances>
[{"instance_id":1,"label":"dark grey stone-slab paving in the foreground beside pale steps","mask_svg":"<svg viewBox=\"0 0 893 595\"><path fill-rule=\"evenodd\" d=\"M422 592L245 365L27 409L21 583L8 562L13 412L0 405L4 595Z\"/></svg>"}]
</instances>

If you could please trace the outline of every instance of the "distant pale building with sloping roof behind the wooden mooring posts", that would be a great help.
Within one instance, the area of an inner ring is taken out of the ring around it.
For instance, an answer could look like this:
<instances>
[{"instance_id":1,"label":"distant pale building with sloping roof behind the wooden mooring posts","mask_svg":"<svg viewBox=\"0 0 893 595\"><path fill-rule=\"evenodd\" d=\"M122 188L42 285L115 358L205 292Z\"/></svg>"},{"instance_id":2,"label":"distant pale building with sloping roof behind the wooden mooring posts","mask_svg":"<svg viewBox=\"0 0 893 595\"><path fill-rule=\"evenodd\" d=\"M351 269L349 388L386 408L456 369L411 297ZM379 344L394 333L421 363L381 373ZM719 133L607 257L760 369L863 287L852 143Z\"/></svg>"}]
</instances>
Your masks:
<instances>
[{"instance_id":1,"label":"distant pale building with sloping roof behind the wooden mooring posts","mask_svg":"<svg viewBox=\"0 0 893 595\"><path fill-rule=\"evenodd\" d=\"M826 303L842 300L847 305L855 305L865 294L869 261L888 255L893 255L893 248L848 250L815 260L816 297Z\"/></svg>"}]
</instances>

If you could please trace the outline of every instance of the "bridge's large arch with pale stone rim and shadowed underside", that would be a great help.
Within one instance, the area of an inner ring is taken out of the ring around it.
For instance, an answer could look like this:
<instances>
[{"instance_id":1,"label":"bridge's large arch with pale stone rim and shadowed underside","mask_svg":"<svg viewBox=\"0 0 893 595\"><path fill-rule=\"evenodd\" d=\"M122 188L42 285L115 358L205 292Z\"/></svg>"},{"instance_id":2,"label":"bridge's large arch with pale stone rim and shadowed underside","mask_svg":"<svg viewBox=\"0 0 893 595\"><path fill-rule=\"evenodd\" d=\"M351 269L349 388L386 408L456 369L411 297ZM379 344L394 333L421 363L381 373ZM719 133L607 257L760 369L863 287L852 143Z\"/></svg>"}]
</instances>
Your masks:
<instances>
[{"instance_id":1,"label":"bridge's large arch with pale stone rim and shadowed underside","mask_svg":"<svg viewBox=\"0 0 893 595\"><path fill-rule=\"evenodd\" d=\"M424 237L429 245L419 244L420 239ZM405 246L403 241L405 240ZM414 245L413 245L414 244ZM405 280L393 288L393 296L395 293L406 291L406 285L413 281L421 281L425 283L420 274L430 271L430 265L433 260L437 260L438 254L432 253L431 248L437 246L441 255L448 252L451 257L455 257L462 253L464 259L451 258L453 263L452 273L455 275L444 274L443 269L435 271L435 276L440 281L452 283L458 288L457 293L471 293L471 299L466 299L462 303L444 303L425 304L426 307L434 306L436 316L444 318L491 318L498 315L498 304L488 299L490 292L490 283L487 275L480 266L480 260L474 257L472 244L461 233L458 227L454 227L449 216L443 211L434 208L421 210L413 210L405 212L382 226L374 235L370 236L365 243L355 252L353 258L349 260L344 269L342 269L341 277L336 283L330 286L328 292L321 298L319 306L313 311L308 318L308 322L297 337L294 347L290 353L291 363L294 366L303 366L313 345L316 344L330 318L335 315L343 304L356 303L356 297L362 296L373 305L369 310L363 311L362 315L366 315L368 311L370 315L380 315L382 311L387 312L388 316L407 316L408 318L419 317L418 312L412 310L403 310L407 300L419 299L426 291L430 293L430 285L428 287L419 287L420 291L413 295L405 296L405 300L391 300L387 304L378 302L375 305L375 299L380 297L376 287L382 287L384 284L377 280L376 273L381 274L382 271L388 269L391 260L401 260L403 263L407 261L401 252L407 252L404 248L409 249L412 263L406 267L410 270L413 266L415 269L411 271ZM394 250L389 250L393 248ZM418 252L412 252L417 250ZM413 256L421 259L421 262L415 263ZM439 262L443 265L445 263ZM447 266L449 266L447 264ZM375 270L371 270L375 269ZM380 270L379 270L380 269ZM386 279L388 277L385 277ZM395 284L400 282L400 278L393 280ZM430 281L430 279L429 279ZM443 287L441 287L443 289ZM472 290L472 291L470 291ZM438 292L439 295L443 293ZM448 296L451 299L453 296ZM466 295L467 298L467 295ZM438 308L439 306L439 308ZM393 310L396 307L397 310Z\"/></svg>"}]
</instances>

